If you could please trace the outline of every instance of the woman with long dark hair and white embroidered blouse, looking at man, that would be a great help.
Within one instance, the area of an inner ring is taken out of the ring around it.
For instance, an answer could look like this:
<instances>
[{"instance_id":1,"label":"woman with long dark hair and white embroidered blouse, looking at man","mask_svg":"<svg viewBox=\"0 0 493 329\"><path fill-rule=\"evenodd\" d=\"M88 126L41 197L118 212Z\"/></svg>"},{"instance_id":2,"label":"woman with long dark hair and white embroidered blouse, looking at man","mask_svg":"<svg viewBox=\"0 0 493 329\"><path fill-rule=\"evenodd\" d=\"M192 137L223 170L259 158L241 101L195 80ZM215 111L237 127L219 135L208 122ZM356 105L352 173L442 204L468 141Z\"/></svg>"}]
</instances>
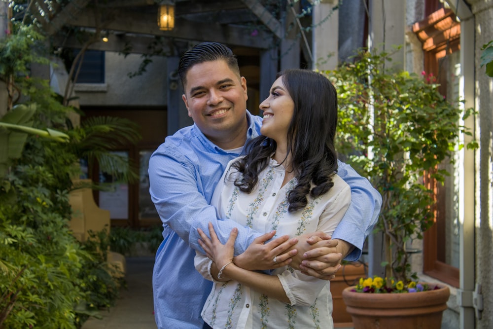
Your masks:
<instances>
[{"instance_id":1,"label":"woman with long dark hair and white embroidered blouse, looking at man","mask_svg":"<svg viewBox=\"0 0 493 329\"><path fill-rule=\"evenodd\" d=\"M336 174L335 88L319 73L287 70L260 109L262 135L228 164L215 189L211 204L219 218L259 232L332 234L351 203L349 185ZM211 239L199 229L207 256L195 259L214 282L202 310L205 328L333 328L328 281L289 266L268 274L237 267L237 230L222 245L209 229Z\"/></svg>"}]
</instances>

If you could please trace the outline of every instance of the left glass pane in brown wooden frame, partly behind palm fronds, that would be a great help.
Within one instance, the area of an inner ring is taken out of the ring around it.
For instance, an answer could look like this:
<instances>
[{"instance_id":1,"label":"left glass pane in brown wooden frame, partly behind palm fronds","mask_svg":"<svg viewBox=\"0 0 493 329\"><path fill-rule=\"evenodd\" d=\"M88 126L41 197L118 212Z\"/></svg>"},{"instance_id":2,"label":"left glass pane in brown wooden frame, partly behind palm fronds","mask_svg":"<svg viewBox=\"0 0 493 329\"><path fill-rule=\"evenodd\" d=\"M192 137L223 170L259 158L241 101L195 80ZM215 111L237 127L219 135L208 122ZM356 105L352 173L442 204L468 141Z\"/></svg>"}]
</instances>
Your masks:
<instances>
[{"instance_id":1,"label":"left glass pane in brown wooden frame, partly behind palm fronds","mask_svg":"<svg viewBox=\"0 0 493 329\"><path fill-rule=\"evenodd\" d=\"M112 152L128 158L128 152ZM110 191L99 192L99 207L109 210L111 219L128 219L128 183L114 181L111 175L99 173L100 183L111 183Z\"/></svg>"}]
</instances>

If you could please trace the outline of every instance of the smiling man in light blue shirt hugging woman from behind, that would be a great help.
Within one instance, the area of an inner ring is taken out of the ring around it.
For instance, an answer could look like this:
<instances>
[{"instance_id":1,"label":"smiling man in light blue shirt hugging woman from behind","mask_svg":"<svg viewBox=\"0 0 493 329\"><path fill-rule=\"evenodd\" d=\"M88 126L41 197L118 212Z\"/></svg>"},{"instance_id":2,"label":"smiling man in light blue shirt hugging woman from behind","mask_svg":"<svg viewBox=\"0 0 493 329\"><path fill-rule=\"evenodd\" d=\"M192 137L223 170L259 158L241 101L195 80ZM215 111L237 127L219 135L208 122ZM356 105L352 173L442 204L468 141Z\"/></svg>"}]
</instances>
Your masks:
<instances>
[{"instance_id":1,"label":"smiling man in light blue shirt hugging woman from behind","mask_svg":"<svg viewBox=\"0 0 493 329\"><path fill-rule=\"evenodd\" d=\"M180 59L178 73L194 125L167 137L149 160L150 194L164 226L153 272L154 311L160 329L202 328L200 312L211 282L194 268L195 250L201 250L197 228L208 232L212 222L225 243L236 227L232 220L217 219L209 203L227 163L242 153L248 139L258 136L262 120L246 110L246 79L240 75L236 57L224 45L196 45ZM353 200L334 232L333 237L339 240L317 242L320 239L309 233L267 242L274 232L260 235L238 227L235 264L267 270L291 262L293 267L327 280L338 270L342 255L352 252L347 259L357 259L378 216L381 197L351 167L339 165L338 174L351 186Z\"/></svg>"}]
</instances>

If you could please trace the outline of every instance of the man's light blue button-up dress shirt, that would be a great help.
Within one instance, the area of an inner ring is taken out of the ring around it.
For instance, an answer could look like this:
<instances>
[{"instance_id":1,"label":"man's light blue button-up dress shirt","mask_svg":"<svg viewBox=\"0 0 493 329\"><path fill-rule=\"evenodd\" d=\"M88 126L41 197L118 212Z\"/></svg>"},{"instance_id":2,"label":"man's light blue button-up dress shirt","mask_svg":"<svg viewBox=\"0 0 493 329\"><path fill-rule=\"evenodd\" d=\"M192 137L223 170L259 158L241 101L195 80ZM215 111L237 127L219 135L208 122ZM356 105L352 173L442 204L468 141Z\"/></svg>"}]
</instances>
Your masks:
<instances>
[{"instance_id":1,"label":"man's light blue button-up dress shirt","mask_svg":"<svg viewBox=\"0 0 493 329\"><path fill-rule=\"evenodd\" d=\"M248 111L246 115L246 137L251 139L259 135L262 118ZM212 222L218 238L225 243L236 227L234 220L217 219L210 201L226 165L239 155L215 146L194 124L168 136L149 159L150 195L164 227L152 276L159 329L203 326L200 313L212 283L194 267L195 249L202 250L197 228L208 232L208 223ZM351 186L352 203L332 237L354 245L355 250L346 259L356 260L378 218L382 198L351 166L339 162L338 175ZM248 227L238 229L235 255L243 253L261 235Z\"/></svg>"}]
</instances>

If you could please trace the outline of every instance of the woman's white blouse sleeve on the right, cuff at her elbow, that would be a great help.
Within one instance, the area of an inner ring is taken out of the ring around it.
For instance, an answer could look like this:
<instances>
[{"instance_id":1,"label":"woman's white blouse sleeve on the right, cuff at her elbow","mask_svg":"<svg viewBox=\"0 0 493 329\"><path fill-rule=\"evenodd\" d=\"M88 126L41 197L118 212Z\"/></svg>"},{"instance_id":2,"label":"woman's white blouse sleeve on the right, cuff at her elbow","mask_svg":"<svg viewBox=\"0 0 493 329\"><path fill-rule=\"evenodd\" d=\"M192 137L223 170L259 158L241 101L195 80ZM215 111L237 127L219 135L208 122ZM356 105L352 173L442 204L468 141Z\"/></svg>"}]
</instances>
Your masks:
<instances>
[{"instance_id":1,"label":"woman's white blouse sleeve on the right, cuff at her elbow","mask_svg":"<svg viewBox=\"0 0 493 329\"><path fill-rule=\"evenodd\" d=\"M344 187L324 209L318 219L317 231L331 234L343 218L351 203L350 187ZM291 305L310 306L315 302L327 281L307 276L300 271L284 271L278 275L282 288L289 298Z\"/></svg>"}]
</instances>

